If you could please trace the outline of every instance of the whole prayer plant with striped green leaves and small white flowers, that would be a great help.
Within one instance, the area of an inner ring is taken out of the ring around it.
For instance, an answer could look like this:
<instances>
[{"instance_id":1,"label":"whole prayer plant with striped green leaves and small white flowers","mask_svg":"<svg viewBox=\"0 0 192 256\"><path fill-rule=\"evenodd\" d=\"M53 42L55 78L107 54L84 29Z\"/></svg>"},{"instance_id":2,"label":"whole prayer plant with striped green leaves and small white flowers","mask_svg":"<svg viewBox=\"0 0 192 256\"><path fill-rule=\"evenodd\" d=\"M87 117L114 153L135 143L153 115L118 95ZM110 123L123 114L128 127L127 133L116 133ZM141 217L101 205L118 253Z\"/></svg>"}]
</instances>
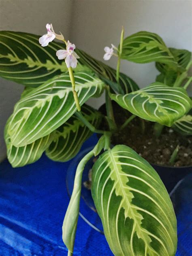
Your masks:
<instances>
[{"instance_id":1,"label":"whole prayer plant with striped green leaves and small white flowers","mask_svg":"<svg viewBox=\"0 0 192 256\"><path fill-rule=\"evenodd\" d=\"M30 164L44 151L52 160L65 162L77 155L93 132L100 134L94 149L77 166L63 222L68 255L73 254L83 169L93 156L99 157L92 168L92 197L113 254L175 255L177 223L169 194L154 168L118 140L133 122L141 134L154 130L156 138L161 138L164 127L177 130L183 140L191 135L191 100L186 92L191 81L187 74L190 52L168 48L160 36L150 32L124 39L122 29L119 47L105 47L105 60L117 57L114 70L75 49L52 25L46 28L47 34L41 38L0 32L0 75L25 86L5 127L10 163L13 167ZM62 43L52 42L55 38ZM156 82L139 89L119 72L121 59L156 62L160 75ZM106 115L85 105L104 91ZM111 100L119 106L115 111ZM117 123L118 111L124 120ZM111 147L111 142L120 145ZM184 150L183 145L173 147L170 164L175 162L179 147Z\"/></svg>"}]
</instances>

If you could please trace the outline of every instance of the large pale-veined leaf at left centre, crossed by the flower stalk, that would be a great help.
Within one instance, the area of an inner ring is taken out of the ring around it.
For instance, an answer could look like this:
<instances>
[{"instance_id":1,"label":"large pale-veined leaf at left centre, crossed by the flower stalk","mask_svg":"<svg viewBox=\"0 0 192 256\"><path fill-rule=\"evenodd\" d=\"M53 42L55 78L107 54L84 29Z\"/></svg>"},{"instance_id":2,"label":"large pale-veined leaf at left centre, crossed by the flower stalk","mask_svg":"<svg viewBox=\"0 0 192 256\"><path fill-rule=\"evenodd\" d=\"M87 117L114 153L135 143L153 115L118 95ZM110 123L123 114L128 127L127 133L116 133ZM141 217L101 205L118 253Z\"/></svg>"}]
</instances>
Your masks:
<instances>
[{"instance_id":1,"label":"large pale-veined leaf at left centre, crossed by the flower stalk","mask_svg":"<svg viewBox=\"0 0 192 256\"><path fill-rule=\"evenodd\" d=\"M99 96L105 84L87 73L75 74L80 105ZM60 127L77 111L68 74L26 93L14 108L8 133L16 147L30 144Z\"/></svg>"}]
</instances>

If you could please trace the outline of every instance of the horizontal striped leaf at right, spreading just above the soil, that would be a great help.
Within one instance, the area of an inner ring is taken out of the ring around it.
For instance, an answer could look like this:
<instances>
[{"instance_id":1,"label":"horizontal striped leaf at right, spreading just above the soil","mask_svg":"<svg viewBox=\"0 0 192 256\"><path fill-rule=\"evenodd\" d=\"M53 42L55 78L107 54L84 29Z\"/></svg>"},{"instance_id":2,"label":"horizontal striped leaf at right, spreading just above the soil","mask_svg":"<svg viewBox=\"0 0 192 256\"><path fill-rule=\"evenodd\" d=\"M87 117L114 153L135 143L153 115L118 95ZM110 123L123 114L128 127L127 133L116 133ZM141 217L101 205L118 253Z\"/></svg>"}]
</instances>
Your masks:
<instances>
[{"instance_id":1,"label":"horizontal striped leaf at right, spreading just above the soil","mask_svg":"<svg viewBox=\"0 0 192 256\"><path fill-rule=\"evenodd\" d=\"M137 92L110 96L134 115L166 126L172 126L191 108L191 100L185 89L169 87L158 82Z\"/></svg>"}]
</instances>

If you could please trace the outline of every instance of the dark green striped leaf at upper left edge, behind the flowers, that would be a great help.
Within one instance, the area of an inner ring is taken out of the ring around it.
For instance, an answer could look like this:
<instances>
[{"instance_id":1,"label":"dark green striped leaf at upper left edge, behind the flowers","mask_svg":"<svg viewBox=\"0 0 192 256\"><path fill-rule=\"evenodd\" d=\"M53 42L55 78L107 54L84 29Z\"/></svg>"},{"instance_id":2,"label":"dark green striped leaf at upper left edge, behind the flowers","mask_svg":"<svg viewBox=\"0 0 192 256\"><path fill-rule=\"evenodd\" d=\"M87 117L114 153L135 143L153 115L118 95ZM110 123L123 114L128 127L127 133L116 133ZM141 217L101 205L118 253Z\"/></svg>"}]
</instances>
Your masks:
<instances>
[{"instance_id":1,"label":"dark green striped leaf at upper left edge, behind the flowers","mask_svg":"<svg viewBox=\"0 0 192 256\"><path fill-rule=\"evenodd\" d=\"M0 76L26 86L37 87L67 71L56 58L59 45L41 47L38 36L22 32L0 32Z\"/></svg>"}]
</instances>

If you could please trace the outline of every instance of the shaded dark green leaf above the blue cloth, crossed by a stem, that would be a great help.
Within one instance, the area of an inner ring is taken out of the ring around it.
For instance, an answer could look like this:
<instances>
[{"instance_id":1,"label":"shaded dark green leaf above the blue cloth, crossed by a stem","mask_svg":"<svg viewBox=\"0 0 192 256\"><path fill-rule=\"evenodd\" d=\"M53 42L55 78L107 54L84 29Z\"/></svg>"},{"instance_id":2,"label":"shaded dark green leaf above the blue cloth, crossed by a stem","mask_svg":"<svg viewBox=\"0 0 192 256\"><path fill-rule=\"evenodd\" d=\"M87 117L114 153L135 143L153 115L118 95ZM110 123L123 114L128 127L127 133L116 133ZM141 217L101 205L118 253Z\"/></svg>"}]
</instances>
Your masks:
<instances>
[{"instance_id":1,"label":"shaded dark green leaf above the blue cloth, crossed by a stem","mask_svg":"<svg viewBox=\"0 0 192 256\"><path fill-rule=\"evenodd\" d=\"M82 114L94 127L98 128L102 119L101 114L89 106L83 105ZM54 139L47 148L46 154L53 161L66 162L76 156L82 144L93 132L75 115L55 130Z\"/></svg>"}]
</instances>

